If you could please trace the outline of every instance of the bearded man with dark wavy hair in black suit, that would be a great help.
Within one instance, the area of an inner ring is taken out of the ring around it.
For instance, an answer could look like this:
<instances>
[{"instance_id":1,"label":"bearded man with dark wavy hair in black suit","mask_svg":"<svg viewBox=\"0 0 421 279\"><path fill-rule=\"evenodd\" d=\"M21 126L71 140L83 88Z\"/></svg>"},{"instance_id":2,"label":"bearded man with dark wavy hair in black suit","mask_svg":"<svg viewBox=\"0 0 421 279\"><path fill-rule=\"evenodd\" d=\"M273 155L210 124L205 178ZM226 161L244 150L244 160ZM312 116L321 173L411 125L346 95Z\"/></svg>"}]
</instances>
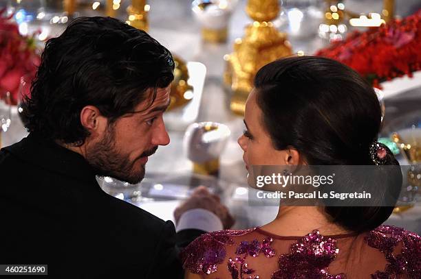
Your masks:
<instances>
[{"instance_id":1,"label":"bearded man with dark wavy hair in black suit","mask_svg":"<svg viewBox=\"0 0 421 279\"><path fill-rule=\"evenodd\" d=\"M52 278L182 277L175 239L203 231L175 234L171 221L96 182L140 182L148 156L169 144L162 114L173 69L165 47L116 19L79 18L47 41L23 105L30 134L0 151L1 264L47 264ZM204 213L206 223L229 226L213 195L201 189L197 199L218 214Z\"/></svg>"}]
</instances>

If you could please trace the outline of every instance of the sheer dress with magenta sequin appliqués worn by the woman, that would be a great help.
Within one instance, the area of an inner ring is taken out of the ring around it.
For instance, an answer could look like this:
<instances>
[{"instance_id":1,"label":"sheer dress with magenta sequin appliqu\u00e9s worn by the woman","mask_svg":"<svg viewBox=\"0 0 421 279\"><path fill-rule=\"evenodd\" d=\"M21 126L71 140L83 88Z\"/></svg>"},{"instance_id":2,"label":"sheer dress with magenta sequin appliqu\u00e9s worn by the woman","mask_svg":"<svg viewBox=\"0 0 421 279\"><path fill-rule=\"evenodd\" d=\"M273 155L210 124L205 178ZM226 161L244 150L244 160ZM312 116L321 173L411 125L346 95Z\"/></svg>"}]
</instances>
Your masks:
<instances>
[{"instance_id":1,"label":"sheer dress with magenta sequin appliqu\u00e9s worn by the woman","mask_svg":"<svg viewBox=\"0 0 421 279\"><path fill-rule=\"evenodd\" d=\"M181 254L202 278L421 278L421 237L380 226L363 234L278 236L260 228L204 234Z\"/></svg>"}]
</instances>

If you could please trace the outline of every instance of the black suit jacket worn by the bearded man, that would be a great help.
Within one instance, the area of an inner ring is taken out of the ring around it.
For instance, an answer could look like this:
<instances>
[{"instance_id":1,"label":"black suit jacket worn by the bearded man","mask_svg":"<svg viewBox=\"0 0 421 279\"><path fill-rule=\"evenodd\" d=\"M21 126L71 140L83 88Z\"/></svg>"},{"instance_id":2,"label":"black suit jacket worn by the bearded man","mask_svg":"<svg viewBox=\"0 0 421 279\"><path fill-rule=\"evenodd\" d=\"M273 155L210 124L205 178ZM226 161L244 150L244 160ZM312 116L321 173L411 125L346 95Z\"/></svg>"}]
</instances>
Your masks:
<instances>
[{"instance_id":1,"label":"black suit jacket worn by the bearded man","mask_svg":"<svg viewBox=\"0 0 421 279\"><path fill-rule=\"evenodd\" d=\"M0 151L0 217L0 264L47 278L182 278L176 239L202 233L107 195L83 156L34 134Z\"/></svg>"}]
</instances>

